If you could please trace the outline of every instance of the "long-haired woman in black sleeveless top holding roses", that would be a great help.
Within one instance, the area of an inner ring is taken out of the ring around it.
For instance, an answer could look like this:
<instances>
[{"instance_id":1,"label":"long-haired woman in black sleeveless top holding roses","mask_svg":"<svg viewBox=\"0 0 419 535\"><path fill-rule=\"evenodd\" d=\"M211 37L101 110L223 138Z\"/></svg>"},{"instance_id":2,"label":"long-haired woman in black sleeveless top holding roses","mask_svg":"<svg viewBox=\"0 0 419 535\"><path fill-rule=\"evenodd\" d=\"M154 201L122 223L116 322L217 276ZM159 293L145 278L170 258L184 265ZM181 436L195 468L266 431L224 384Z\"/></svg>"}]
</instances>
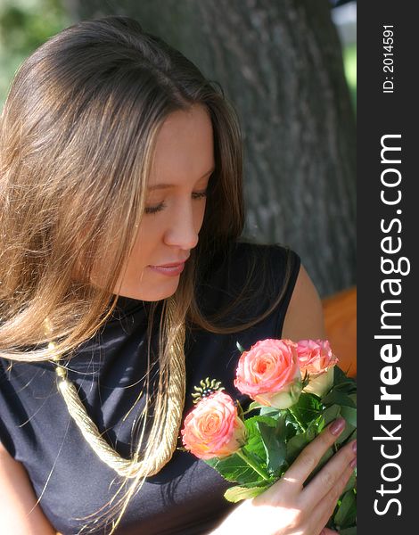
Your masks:
<instances>
[{"instance_id":1,"label":"long-haired woman in black sleeveless top holding roses","mask_svg":"<svg viewBox=\"0 0 419 535\"><path fill-rule=\"evenodd\" d=\"M354 445L303 483L343 421L240 506L177 450L194 384L241 399L235 342L325 337L299 257L239 241L219 88L136 21L84 21L22 65L1 147L4 532L320 533Z\"/></svg>"}]
</instances>

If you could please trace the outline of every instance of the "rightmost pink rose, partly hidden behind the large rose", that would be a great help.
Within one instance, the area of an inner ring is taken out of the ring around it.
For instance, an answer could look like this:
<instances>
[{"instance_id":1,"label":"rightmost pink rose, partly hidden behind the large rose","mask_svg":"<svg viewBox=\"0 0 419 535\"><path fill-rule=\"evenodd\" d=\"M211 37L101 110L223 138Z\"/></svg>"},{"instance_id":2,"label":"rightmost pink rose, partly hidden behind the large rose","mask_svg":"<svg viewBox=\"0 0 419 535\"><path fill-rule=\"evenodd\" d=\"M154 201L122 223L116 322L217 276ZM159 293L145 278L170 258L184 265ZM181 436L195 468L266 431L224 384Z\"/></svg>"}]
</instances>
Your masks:
<instances>
[{"instance_id":1,"label":"rightmost pink rose, partly hidden behind the large rose","mask_svg":"<svg viewBox=\"0 0 419 535\"><path fill-rule=\"evenodd\" d=\"M333 355L327 340L300 340L297 344L301 374L309 374L304 391L322 397L333 386L333 366L338 358Z\"/></svg>"}]
</instances>

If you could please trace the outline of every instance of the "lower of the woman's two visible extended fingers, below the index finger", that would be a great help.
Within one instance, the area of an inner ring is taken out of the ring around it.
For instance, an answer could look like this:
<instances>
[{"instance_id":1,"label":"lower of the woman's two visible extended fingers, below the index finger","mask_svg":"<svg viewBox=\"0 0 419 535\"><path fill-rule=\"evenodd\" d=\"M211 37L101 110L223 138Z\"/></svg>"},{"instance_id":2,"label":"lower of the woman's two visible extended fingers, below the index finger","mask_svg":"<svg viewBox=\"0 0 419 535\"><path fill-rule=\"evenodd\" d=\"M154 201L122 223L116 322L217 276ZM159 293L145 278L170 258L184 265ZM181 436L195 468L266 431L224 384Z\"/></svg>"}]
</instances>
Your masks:
<instances>
[{"instance_id":1,"label":"lower of the woman's two visible extended fingers, below the index finger","mask_svg":"<svg viewBox=\"0 0 419 535\"><path fill-rule=\"evenodd\" d=\"M316 473L316 476L301 491L300 500L303 507L320 501L341 479L341 475L346 469L349 468L349 475L352 473L353 468L349 467L349 463L357 457L356 446L357 440L349 442L333 455L319 473Z\"/></svg>"}]
</instances>

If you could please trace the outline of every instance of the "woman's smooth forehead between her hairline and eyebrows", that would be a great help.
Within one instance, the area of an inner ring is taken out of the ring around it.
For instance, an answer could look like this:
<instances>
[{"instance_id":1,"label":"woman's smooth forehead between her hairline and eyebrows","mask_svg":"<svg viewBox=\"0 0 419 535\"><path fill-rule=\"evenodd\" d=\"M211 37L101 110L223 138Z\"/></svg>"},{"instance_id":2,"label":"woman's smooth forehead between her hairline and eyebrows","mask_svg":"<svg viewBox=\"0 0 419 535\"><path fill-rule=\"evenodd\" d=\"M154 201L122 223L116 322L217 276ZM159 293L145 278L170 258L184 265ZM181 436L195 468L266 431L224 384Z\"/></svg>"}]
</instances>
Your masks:
<instances>
[{"instance_id":1,"label":"woman's smooth forehead between her hairline and eyebrows","mask_svg":"<svg viewBox=\"0 0 419 535\"><path fill-rule=\"evenodd\" d=\"M193 105L187 111L170 113L156 138L149 187L198 180L213 167L213 131L208 111Z\"/></svg>"}]
</instances>

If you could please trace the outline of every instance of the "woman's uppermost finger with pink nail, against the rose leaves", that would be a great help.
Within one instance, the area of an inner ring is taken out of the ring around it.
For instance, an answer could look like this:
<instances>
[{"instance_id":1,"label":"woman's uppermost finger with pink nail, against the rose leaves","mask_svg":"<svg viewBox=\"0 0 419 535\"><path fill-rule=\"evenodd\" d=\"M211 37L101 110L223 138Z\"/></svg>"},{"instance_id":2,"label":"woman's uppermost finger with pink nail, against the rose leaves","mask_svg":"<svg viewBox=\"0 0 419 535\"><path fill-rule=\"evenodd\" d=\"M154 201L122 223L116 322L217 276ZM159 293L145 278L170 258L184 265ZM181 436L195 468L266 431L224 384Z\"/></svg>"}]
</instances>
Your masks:
<instances>
[{"instance_id":1,"label":"woman's uppermost finger with pink nail, against the rose leaves","mask_svg":"<svg viewBox=\"0 0 419 535\"><path fill-rule=\"evenodd\" d=\"M333 442L344 430L345 424L346 422L343 418L338 418L332 424L328 425L315 440L312 440L301 451L299 457L296 458L290 468L283 474L281 480L302 487L304 481L306 481L309 474L316 468L316 465L318 465L326 450L333 445Z\"/></svg>"}]
</instances>

